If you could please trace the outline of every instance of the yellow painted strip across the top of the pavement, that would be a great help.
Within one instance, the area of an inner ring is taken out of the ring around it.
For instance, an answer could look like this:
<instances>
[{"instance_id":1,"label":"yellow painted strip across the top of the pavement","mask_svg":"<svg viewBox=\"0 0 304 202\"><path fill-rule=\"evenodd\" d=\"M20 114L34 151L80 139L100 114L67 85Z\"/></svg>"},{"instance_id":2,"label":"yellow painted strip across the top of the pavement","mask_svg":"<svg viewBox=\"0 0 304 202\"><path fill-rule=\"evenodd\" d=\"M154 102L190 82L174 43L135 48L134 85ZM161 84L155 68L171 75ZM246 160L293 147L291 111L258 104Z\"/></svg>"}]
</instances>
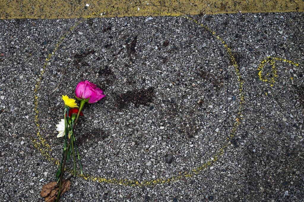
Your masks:
<instances>
[{"instance_id":1,"label":"yellow painted strip across the top of the pavement","mask_svg":"<svg viewBox=\"0 0 304 202\"><path fill-rule=\"evenodd\" d=\"M0 0L0 19L303 12L303 0Z\"/></svg>"}]
</instances>

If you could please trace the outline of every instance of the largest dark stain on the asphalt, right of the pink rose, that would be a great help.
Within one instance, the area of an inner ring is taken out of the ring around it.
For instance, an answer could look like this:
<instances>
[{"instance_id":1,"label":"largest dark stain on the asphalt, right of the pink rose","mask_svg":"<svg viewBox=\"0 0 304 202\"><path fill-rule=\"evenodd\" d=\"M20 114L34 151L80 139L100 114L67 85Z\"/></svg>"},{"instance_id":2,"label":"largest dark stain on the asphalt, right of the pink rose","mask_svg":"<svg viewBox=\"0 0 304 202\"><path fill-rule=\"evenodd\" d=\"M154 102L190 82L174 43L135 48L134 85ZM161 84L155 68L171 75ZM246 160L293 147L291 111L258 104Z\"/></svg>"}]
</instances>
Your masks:
<instances>
[{"instance_id":1,"label":"largest dark stain on the asphalt, right of the pink rose","mask_svg":"<svg viewBox=\"0 0 304 202\"><path fill-rule=\"evenodd\" d=\"M140 89L137 91L127 91L120 94L116 99L116 107L118 109L126 108L130 103L133 103L135 107L140 105L149 106L152 103L154 97L154 88L149 87L147 89Z\"/></svg>"}]
</instances>

